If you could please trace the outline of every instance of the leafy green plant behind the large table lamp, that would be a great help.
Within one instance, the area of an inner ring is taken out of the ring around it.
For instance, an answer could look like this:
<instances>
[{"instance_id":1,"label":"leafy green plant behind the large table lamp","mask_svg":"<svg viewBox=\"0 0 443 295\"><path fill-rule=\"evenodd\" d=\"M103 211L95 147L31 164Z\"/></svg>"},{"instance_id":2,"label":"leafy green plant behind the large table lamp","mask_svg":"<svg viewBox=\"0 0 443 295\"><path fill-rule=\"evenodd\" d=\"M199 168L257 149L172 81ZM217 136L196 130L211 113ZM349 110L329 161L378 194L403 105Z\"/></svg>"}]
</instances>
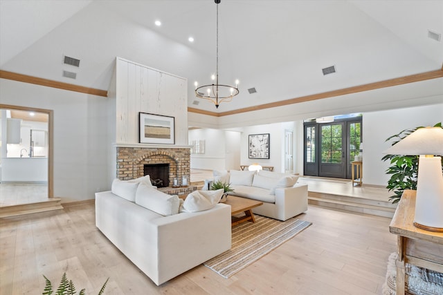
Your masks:
<instances>
[{"instance_id":1,"label":"leafy green plant behind the large table lamp","mask_svg":"<svg viewBox=\"0 0 443 295\"><path fill-rule=\"evenodd\" d=\"M434 127L441 128L442 123L437 123ZM423 127L419 126L415 129L401 131L388 137L386 142L393 140L392 145L397 144L397 142L419 128ZM389 197L392 204L399 202L405 189L417 189L418 155L385 155L381 160L389 160L391 164L386 170L386 174L391 175L386 189L395 193L394 196Z\"/></svg>"}]
</instances>

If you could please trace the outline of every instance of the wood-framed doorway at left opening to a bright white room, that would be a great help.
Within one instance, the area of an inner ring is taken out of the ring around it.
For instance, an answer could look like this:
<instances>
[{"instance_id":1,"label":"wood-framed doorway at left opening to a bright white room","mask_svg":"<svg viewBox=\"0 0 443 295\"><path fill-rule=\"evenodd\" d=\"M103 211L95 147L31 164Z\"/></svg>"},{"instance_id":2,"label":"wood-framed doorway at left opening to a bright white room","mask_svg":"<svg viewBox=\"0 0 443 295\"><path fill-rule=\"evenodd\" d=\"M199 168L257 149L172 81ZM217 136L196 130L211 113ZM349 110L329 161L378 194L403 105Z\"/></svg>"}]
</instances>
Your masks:
<instances>
[{"instance_id":1,"label":"wood-framed doorway at left opening to a bright white room","mask_svg":"<svg viewBox=\"0 0 443 295\"><path fill-rule=\"evenodd\" d=\"M1 185L8 191L8 193L3 193L3 195L17 195L19 200L16 200L15 204L19 205L42 201L29 197L34 192L33 190L43 194L39 198L53 198L53 111L6 104L0 104L0 110L2 114L0 156L1 166L3 166ZM6 113L8 115L5 116ZM32 116L33 119L26 116ZM8 124L8 121L11 124ZM17 125L15 124L17 122L19 122L18 127L14 126ZM21 122L25 122L25 124L21 124ZM14 135L12 137L16 138L8 138L8 131L10 131L11 136ZM38 165L41 165L40 163L44 165L42 169L38 168ZM33 169L21 167L28 164L33 166ZM8 175L4 173L10 174L11 170L8 169L10 167L15 169L13 173L22 178L17 178L17 181L13 180L14 177L8 178ZM30 175L35 170L39 171L39 173ZM27 186L27 184L29 185ZM21 193L21 191L26 193ZM20 195L24 195L23 200ZM0 203L3 204L3 202ZM4 203L4 206L9 205L11 204Z\"/></svg>"}]
</instances>

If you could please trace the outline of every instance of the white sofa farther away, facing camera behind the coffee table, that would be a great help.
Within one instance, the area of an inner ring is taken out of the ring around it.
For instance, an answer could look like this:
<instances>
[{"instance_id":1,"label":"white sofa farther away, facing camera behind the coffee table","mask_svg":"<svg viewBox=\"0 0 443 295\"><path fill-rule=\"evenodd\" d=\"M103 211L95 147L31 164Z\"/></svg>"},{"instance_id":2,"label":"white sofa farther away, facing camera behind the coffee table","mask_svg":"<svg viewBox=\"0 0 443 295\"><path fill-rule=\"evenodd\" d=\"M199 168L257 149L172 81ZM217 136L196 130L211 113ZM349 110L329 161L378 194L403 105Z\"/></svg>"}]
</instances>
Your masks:
<instances>
[{"instance_id":1,"label":"white sofa farther away, facing camera behind the coffee table","mask_svg":"<svg viewBox=\"0 0 443 295\"><path fill-rule=\"evenodd\" d=\"M307 211L307 184L297 183L297 175L231 170L214 171L214 176L231 184L234 191L228 194L262 201L253 213L284 221Z\"/></svg>"}]
</instances>

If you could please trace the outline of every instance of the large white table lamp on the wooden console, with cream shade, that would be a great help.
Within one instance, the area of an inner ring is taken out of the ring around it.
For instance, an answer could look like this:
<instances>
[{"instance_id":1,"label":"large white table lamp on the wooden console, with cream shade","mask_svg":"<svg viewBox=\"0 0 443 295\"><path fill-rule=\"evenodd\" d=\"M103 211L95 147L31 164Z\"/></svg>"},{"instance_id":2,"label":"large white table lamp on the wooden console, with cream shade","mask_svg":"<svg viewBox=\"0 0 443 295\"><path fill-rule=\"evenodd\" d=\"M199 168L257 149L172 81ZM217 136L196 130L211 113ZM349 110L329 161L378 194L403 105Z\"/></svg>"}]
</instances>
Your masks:
<instances>
[{"instance_id":1,"label":"large white table lamp on the wooden console, with cream shade","mask_svg":"<svg viewBox=\"0 0 443 295\"><path fill-rule=\"evenodd\" d=\"M388 155L419 155L414 226L443 232L443 129L419 128L384 151Z\"/></svg>"}]
</instances>

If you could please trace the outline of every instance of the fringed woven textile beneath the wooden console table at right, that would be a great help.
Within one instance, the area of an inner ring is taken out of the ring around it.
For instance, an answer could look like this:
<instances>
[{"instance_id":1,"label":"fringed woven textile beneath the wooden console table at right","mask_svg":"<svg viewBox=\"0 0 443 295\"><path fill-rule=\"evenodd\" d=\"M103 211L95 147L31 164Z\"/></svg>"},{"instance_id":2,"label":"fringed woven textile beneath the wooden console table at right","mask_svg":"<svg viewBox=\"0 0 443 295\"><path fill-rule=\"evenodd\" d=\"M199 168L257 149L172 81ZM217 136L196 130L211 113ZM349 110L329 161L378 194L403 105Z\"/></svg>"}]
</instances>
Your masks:
<instances>
[{"instance_id":1,"label":"fringed woven textile beneath the wooden console table at right","mask_svg":"<svg viewBox=\"0 0 443 295\"><path fill-rule=\"evenodd\" d=\"M383 295L395 295L395 280L397 276L397 269L395 267L395 260L397 260L397 253L390 254L388 258L388 268L386 272L386 281L381 288ZM441 295L443 294L443 274L440 272L433 272L429 269L417 267L406 263L406 292L408 294L420 295Z\"/></svg>"}]
</instances>

